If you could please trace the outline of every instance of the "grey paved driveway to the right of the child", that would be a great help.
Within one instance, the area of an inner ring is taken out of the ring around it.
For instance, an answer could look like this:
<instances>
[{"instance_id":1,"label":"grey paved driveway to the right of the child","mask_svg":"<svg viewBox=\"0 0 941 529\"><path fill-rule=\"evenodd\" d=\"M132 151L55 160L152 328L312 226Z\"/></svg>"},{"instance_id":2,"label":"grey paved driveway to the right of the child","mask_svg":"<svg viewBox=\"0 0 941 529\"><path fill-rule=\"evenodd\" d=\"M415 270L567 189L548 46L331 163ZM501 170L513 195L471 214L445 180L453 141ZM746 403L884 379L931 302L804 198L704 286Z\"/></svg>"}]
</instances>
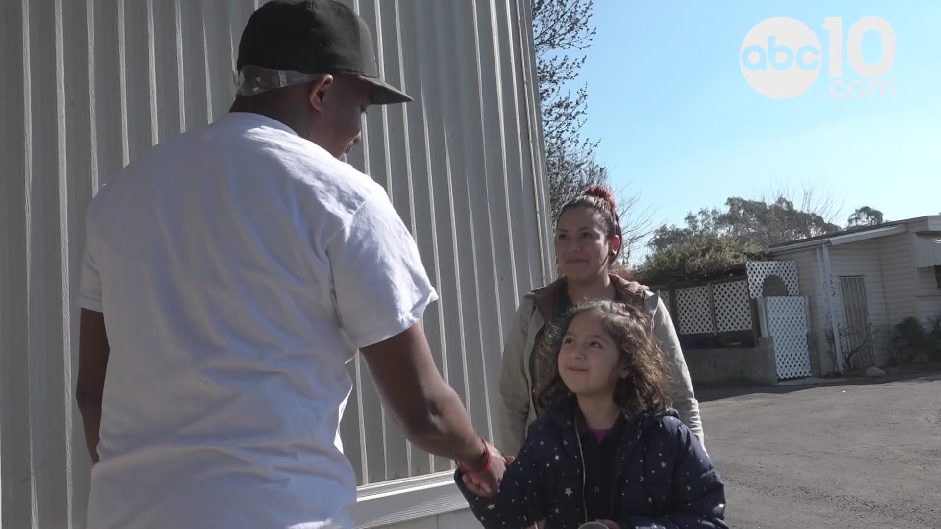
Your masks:
<instances>
[{"instance_id":1,"label":"grey paved driveway to the right of the child","mask_svg":"<svg viewBox=\"0 0 941 529\"><path fill-rule=\"evenodd\" d=\"M731 527L941 528L941 373L697 396Z\"/></svg>"}]
</instances>

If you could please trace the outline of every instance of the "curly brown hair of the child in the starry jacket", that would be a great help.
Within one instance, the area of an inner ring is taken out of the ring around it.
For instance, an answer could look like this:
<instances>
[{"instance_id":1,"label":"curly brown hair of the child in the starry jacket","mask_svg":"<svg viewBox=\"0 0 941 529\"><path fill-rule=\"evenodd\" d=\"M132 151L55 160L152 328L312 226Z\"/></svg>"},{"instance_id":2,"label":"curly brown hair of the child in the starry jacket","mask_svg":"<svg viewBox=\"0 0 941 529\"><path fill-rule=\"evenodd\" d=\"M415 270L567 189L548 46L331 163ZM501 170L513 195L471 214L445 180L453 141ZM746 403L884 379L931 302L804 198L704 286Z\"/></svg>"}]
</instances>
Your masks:
<instances>
[{"instance_id":1,"label":"curly brown hair of the child in the starry jacket","mask_svg":"<svg viewBox=\"0 0 941 529\"><path fill-rule=\"evenodd\" d=\"M616 301L590 301L571 309L558 324L546 333L546 344L539 348L539 389L536 401L540 408L561 404L572 393L559 375L559 352L568 325L575 316L596 313L601 328L617 347L620 366L628 375L618 378L614 387L614 404L628 417L644 411L662 412L670 405L669 380L663 364L663 353L651 330L650 318L639 307Z\"/></svg>"}]
</instances>

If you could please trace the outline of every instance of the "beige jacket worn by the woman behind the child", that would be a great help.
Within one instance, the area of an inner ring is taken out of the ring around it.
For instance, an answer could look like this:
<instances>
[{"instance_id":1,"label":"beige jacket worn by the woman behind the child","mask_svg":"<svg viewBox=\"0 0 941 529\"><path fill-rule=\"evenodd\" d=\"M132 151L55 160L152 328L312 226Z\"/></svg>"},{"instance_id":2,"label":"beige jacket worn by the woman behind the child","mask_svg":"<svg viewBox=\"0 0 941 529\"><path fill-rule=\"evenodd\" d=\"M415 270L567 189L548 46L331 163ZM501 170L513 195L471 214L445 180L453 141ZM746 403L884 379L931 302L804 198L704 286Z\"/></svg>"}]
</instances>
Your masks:
<instances>
[{"instance_id":1,"label":"beige jacket worn by the woman behind the child","mask_svg":"<svg viewBox=\"0 0 941 529\"><path fill-rule=\"evenodd\" d=\"M683 423L693 430L700 442L704 441L699 403L693 392L690 372L683 359L677 331L673 327L666 305L659 294L630 290L628 282L612 276L619 298L643 296L644 309L653 320L653 332L660 344L672 379L673 407ZM533 402L534 374L531 373L532 355L536 341L541 338L546 320L554 314L565 281L555 281L523 297L517 315L506 337L500 375L502 408L499 417L499 446L505 454L517 454L526 439L526 430L535 419Z\"/></svg>"}]
</instances>

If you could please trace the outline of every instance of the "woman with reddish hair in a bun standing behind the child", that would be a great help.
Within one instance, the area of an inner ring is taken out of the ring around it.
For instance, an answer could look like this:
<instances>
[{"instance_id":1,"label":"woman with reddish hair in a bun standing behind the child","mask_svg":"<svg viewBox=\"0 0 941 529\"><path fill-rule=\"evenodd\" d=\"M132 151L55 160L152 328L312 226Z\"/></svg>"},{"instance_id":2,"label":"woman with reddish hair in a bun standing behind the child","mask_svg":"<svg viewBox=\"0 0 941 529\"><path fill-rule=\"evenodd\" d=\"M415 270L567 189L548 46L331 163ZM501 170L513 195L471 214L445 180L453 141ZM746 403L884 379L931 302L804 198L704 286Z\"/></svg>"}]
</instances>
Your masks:
<instances>
[{"instance_id":1,"label":"woman with reddish hair in a bun standing behind the child","mask_svg":"<svg viewBox=\"0 0 941 529\"><path fill-rule=\"evenodd\" d=\"M609 189L591 185L562 208L555 229L555 255L562 278L523 297L503 348L500 442L506 454L519 452L527 427L539 413L534 404L537 402L536 374L539 373L535 349L543 343L545 328L573 304L592 300L629 303L647 314L671 379L673 407L678 410L680 420L704 443L699 403L670 313L659 295L616 273L615 262L620 250L621 226Z\"/></svg>"}]
</instances>

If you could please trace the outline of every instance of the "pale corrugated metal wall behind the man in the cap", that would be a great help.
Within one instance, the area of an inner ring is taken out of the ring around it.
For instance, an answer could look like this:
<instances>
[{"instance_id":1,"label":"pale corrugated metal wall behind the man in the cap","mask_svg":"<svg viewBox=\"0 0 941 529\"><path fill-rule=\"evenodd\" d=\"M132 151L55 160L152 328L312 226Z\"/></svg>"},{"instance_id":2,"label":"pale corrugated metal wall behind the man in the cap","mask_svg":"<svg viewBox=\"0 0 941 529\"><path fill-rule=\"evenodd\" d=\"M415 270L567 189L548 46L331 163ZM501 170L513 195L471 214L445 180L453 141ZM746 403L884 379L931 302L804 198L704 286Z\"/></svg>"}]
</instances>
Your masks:
<instances>
[{"instance_id":1,"label":"pale corrugated metal wall behind the man in the cap","mask_svg":"<svg viewBox=\"0 0 941 529\"><path fill-rule=\"evenodd\" d=\"M347 1L374 28L386 78L416 98L371 109L351 163L415 234L441 296L425 319L439 368L490 433L501 336L518 296L551 274L529 2ZM152 143L225 112L233 49L258 4L2 3L3 527L83 525L73 300L88 201ZM359 482L448 469L407 445L365 367L350 370L342 430Z\"/></svg>"}]
</instances>

